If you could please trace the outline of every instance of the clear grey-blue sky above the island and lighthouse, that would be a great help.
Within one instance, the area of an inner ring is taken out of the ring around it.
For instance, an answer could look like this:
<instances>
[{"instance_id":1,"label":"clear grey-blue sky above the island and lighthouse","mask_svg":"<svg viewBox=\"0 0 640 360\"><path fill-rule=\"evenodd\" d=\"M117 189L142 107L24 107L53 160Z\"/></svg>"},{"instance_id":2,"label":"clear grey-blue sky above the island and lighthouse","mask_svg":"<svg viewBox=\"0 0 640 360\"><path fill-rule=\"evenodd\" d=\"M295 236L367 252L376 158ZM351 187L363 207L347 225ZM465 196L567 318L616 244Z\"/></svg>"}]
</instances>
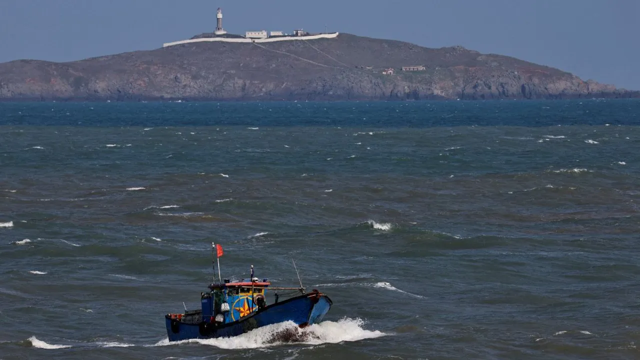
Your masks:
<instances>
[{"instance_id":1,"label":"clear grey-blue sky above the island and lighthouse","mask_svg":"<svg viewBox=\"0 0 640 360\"><path fill-rule=\"evenodd\" d=\"M224 27L462 45L640 90L640 0L0 0L0 62L155 49Z\"/></svg>"}]
</instances>

